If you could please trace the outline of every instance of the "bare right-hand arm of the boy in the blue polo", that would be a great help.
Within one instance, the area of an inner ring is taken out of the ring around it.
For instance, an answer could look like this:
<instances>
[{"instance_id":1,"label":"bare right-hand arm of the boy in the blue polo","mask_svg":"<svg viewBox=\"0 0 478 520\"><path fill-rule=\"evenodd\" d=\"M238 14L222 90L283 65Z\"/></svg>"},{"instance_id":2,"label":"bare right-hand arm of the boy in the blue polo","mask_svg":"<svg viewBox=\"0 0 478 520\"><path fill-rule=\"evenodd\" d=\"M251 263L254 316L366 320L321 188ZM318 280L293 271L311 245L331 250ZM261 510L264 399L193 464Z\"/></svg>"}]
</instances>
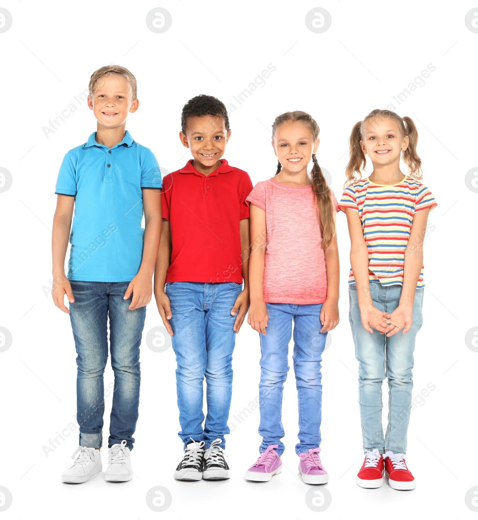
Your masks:
<instances>
[{"instance_id":1,"label":"bare right-hand arm of the boy in the blue polo","mask_svg":"<svg viewBox=\"0 0 478 520\"><path fill-rule=\"evenodd\" d=\"M124 294L124 300L127 300L133 293L133 300L128 307L131 310L144 307L151 301L154 263L161 237L161 191L148 188L141 191L145 212L143 259L138 274L131 280Z\"/></svg>"}]
</instances>

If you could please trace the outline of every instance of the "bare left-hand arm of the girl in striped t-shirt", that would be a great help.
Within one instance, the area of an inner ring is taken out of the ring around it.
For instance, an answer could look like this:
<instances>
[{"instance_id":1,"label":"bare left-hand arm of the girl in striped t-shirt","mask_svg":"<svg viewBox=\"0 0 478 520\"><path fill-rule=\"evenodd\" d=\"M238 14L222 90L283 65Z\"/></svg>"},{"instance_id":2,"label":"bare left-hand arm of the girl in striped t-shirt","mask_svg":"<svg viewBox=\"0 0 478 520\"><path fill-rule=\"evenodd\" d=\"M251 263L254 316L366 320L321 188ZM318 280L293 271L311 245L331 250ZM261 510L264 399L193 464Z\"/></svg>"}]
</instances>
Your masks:
<instances>
[{"instance_id":1,"label":"bare left-hand arm of the girl in striped t-shirt","mask_svg":"<svg viewBox=\"0 0 478 520\"><path fill-rule=\"evenodd\" d=\"M370 333L371 327L379 332L389 332L391 327L386 327L383 313L373 305L370 295L368 278L368 251L365 244L362 223L357 211L345 210L347 215L348 234L350 235L350 264L357 286L358 307L362 324Z\"/></svg>"}]
</instances>

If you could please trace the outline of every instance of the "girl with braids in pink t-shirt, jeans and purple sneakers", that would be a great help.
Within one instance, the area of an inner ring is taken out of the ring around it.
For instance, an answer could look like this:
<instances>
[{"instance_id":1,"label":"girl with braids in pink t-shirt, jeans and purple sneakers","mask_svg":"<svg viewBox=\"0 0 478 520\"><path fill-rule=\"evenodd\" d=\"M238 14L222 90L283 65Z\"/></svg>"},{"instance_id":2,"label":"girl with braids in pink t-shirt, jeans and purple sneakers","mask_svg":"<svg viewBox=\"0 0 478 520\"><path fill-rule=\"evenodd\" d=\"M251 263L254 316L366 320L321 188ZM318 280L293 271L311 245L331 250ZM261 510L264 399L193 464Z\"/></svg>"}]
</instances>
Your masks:
<instances>
[{"instance_id":1,"label":"girl with braids in pink t-shirt, jeans and purple sneakers","mask_svg":"<svg viewBox=\"0 0 478 520\"><path fill-rule=\"evenodd\" d=\"M262 443L248 480L270 480L282 471L282 391L294 323L294 372L299 397L299 470L305 483L324 484L320 462L321 354L327 332L339 323L338 203L315 157L319 127L302 111L277 116L273 179L257 183L250 204L251 306L248 323L260 333L259 384ZM310 174L307 165L313 161Z\"/></svg>"}]
</instances>

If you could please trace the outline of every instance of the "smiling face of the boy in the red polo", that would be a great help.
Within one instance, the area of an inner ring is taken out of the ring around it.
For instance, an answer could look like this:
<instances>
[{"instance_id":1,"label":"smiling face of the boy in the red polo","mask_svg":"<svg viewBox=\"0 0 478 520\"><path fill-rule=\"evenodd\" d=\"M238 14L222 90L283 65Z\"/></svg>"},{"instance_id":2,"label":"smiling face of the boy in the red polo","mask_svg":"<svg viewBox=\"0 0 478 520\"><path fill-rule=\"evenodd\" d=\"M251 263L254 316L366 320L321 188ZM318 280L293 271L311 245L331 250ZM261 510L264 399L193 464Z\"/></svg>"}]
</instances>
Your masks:
<instances>
[{"instance_id":1,"label":"smiling face of the boy in the red polo","mask_svg":"<svg viewBox=\"0 0 478 520\"><path fill-rule=\"evenodd\" d=\"M186 133L179 132L179 138L195 161L210 168L224 155L230 134L222 117L203 115L189 118Z\"/></svg>"}]
</instances>

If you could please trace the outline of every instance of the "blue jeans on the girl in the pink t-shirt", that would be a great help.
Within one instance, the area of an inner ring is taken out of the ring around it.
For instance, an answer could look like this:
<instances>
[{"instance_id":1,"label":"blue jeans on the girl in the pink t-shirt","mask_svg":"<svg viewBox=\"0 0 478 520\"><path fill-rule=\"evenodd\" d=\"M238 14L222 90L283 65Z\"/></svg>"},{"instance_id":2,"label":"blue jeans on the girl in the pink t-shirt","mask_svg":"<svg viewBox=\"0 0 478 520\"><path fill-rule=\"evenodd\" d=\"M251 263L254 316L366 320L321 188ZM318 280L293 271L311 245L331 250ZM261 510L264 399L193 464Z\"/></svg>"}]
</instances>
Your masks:
<instances>
[{"instance_id":1,"label":"blue jeans on the girl in the pink t-shirt","mask_svg":"<svg viewBox=\"0 0 478 520\"><path fill-rule=\"evenodd\" d=\"M327 332L320 332L322 304L266 303L269 320L266 335L261 339L261 382L259 384L259 409L261 422L259 434L262 443L259 451L277 444L277 453L285 449L281 438L282 392L289 365L287 356L294 322L294 372L299 400L299 443L297 454L320 446L320 422L322 418L322 352Z\"/></svg>"}]
</instances>

